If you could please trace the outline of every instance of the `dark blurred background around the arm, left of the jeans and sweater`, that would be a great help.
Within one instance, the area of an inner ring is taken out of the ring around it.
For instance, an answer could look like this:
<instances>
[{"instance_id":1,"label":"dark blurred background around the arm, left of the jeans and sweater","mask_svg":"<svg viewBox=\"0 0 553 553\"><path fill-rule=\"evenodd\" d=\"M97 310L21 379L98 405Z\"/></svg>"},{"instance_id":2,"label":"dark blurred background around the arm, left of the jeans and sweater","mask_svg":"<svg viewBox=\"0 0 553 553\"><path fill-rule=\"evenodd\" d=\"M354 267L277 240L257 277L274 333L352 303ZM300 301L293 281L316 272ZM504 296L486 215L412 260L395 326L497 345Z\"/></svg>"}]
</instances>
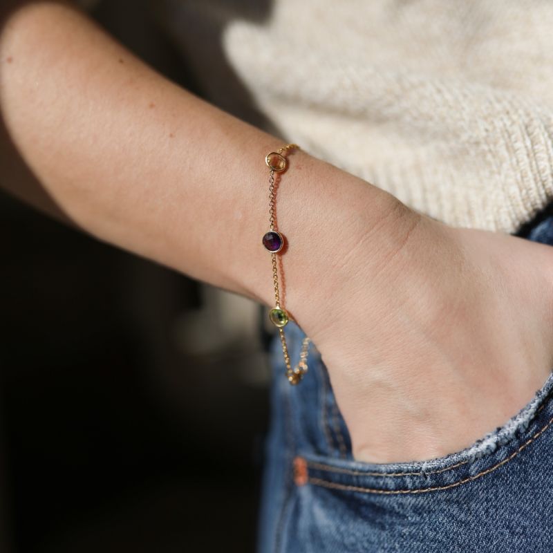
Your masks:
<instances>
[{"instance_id":1,"label":"dark blurred background around the arm, left of the jeans and sweater","mask_svg":"<svg viewBox=\"0 0 553 553\"><path fill-rule=\"evenodd\" d=\"M140 2L91 15L201 95ZM261 308L3 194L0 244L1 552L253 551Z\"/></svg>"}]
</instances>

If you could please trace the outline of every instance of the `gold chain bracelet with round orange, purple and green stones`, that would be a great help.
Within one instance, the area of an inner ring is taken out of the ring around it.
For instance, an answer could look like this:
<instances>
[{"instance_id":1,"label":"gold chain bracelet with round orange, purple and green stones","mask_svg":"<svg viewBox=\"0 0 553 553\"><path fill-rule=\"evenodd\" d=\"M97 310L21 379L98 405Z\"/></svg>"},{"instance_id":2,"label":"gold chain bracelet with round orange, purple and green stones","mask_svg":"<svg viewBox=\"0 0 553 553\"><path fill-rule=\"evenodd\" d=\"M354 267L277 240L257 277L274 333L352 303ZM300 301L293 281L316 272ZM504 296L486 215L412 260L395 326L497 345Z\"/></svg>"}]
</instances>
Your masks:
<instances>
[{"instance_id":1,"label":"gold chain bracelet with round orange, purple and green stones","mask_svg":"<svg viewBox=\"0 0 553 553\"><path fill-rule=\"evenodd\" d=\"M275 218L275 194L274 194L274 174L285 171L288 167L288 160L283 155L293 148L299 149L297 144L286 144L279 151L272 151L265 156L265 164L269 167L269 230L263 234L263 247L271 254L272 262L272 280L274 283L274 303L275 306L269 312L269 319L279 330L279 336L281 339L282 353L284 355L284 363L286 365L286 377L290 384L298 384L303 375L307 373L307 356L309 353L310 339L305 337L301 344L301 351L299 353L299 362L292 368L290 364L290 355L288 355L288 345L286 344L286 337L284 335L284 327L288 324L290 316L286 310L281 306L281 299L279 293L279 272L277 268L277 254L281 252L284 247L284 236L277 229L277 223Z\"/></svg>"}]
</instances>

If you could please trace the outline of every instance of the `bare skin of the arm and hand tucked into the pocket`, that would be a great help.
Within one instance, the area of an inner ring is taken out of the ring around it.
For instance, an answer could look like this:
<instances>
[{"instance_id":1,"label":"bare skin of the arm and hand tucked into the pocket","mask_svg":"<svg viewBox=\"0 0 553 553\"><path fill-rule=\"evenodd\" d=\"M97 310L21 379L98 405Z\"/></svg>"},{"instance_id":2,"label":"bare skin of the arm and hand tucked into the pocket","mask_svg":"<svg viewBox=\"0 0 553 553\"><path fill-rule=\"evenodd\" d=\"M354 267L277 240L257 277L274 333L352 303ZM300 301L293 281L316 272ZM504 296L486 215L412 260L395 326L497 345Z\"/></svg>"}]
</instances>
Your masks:
<instances>
[{"instance_id":1,"label":"bare skin of the arm and hand tucked into the pocket","mask_svg":"<svg viewBox=\"0 0 553 553\"><path fill-rule=\"evenodd\" d=\"M59 1L3 13L0 113L11 194L273 305L263 160L286 140L169 82ZM304 151L289 159L284 304L328 367L355 458L442 456L521 409L553 366L553 250L448 227Z\"/></svg>"}]
</instances>

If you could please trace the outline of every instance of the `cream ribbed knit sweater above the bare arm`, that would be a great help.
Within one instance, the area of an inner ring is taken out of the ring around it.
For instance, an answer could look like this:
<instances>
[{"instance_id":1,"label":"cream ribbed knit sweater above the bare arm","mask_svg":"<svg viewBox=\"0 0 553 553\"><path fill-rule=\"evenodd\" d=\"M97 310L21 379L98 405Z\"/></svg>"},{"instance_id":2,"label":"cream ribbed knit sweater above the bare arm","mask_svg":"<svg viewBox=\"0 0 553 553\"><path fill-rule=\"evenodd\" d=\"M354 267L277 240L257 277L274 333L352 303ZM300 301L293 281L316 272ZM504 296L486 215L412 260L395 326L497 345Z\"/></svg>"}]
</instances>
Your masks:
<instances>
[{"instance_id":1,"label":"cream ribbed knit sweater above the bare arm","mask_svg":"<svg viewBox=\"0 0 553 553\"><path fill-rule=\"evenodd\" d=\"M208 100L450 225L553 199L553 1L163 0Z\"/></svg>"}]
</instances>

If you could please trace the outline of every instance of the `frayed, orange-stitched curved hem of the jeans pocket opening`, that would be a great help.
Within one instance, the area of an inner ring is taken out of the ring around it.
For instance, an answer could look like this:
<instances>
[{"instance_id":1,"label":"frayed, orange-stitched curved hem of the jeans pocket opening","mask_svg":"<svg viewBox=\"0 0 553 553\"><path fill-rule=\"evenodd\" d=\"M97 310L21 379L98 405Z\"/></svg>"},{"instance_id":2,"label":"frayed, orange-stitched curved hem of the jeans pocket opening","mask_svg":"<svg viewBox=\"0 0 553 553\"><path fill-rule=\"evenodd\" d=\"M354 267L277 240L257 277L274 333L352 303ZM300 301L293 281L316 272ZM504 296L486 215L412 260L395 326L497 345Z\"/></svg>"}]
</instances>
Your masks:
<instances>
[{"instance_id":1,"label":"frayed, orange-stitched curved hem of the jeans pocket opening","mask_svg":"<svg viewBox=\"0 0 553 553\"><path fill-rule=\"evenodd\" d=\"M341 457L300 447L295 465L303 481L328 489L382 495L448 490L505 467L536 440L547 440L552 417L553 373L521 411L462 451L424 461L369 463L353 460L350 447Z\"/></svg>"}]
</instances>

